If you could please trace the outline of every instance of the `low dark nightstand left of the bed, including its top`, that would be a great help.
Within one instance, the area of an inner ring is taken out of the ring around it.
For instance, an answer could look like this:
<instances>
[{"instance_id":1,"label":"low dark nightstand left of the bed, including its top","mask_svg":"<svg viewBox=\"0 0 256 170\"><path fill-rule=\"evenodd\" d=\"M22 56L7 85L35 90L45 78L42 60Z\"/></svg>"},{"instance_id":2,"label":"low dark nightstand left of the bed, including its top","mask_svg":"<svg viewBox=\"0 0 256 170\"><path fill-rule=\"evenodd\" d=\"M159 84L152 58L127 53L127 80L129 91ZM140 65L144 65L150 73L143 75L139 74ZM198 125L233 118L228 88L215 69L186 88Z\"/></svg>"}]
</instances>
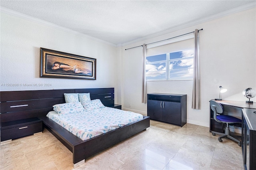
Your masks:
<instances>
[{"instance_id":1,"label":"low dark nightstand left of the bed, including its top","mask_svg":"<svg viewBox=\"0 0 256 170\"><path fill-rule=\"evenodd\" d=\"M42 132L42 120L37 117L1 123L1 142Z\"/></svg>"}]
</instances>

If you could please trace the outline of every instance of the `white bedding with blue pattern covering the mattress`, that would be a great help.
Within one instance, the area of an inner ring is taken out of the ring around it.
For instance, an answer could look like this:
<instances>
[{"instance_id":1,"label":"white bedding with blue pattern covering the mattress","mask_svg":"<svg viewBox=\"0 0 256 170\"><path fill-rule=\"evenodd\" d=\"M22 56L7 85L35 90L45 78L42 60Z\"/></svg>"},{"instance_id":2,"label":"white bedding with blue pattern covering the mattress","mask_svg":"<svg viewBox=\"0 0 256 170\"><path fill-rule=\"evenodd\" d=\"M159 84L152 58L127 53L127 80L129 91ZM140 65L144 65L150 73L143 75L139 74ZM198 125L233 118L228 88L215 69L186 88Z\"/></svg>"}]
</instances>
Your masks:
<instances>
[{"instance_id":1,"label":"white bedding with blue pattern covering the mattress","mask_svg":"<svg viewBox=\"0 0 256 170\"><path fill-rule=\"evenodd\" d=\"M46 116L82 140L90 139L143 119L143 116L139 113L110 107L63 115L51 111Z\"/></svg>"}]
</instances>

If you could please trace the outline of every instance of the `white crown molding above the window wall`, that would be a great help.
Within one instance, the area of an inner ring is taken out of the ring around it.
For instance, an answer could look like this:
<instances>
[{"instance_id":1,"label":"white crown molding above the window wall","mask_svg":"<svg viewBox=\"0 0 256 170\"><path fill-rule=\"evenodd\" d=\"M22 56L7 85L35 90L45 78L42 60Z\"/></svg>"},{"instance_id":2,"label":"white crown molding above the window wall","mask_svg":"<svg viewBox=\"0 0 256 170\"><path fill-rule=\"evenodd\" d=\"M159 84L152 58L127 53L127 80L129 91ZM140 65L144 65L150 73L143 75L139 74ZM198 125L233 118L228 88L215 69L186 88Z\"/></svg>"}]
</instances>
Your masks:
<instances>
[{"instance_id":1,"label":"white crown molding above the window wall","mask_svg":"<svg viewBox=\"0 0 256 170\"><path fill-rule=\"evenodd\" d=\"M251 2L251 3L248 3L246 5L243 5L243 6L239 6L239 7L236 7L236 8L232 8L230 10L227 10L227 11L224 11L224 12L220 12L218 14L215 14L215 15L212 15L212 16L209 16L209 17L204 17L204 18L201 18L199 20L194 20L192 22L187 22L187 23L184 23L184 24L180 24L178 26L175 26L175 27L172 27L172 28L168 28L166 30L162 30L160 32L156 32L154 34L150 34L148 36L144 36L142 38L138 38L136 40L133 40L131 42L127 42L127 43L122 43L122 44L118 44L117 47L122 47L122 46L126 46L126 45L130 45L130 44L133 44L133 43L137 43L137 42L140 42L140 41L144 41L144 40L148 40L150 38L154 38L154 37L157 37L157 36L162 36L164 34L167 34L167 33L170 33L170 32L174 32L174 31L177 31L177 30L181 30L181 29L184 29L184 28L188 28L190 26L194 26L194 25L197 25L197 24L201 24L203 22L208 22L210 20L214 20L214 19L217 19L217 18L221 18L223 16L227 16L227 15L230 15L230 14L234 14L234 13L237 13L237 12L241 12L241 11L244 11L244 10L248 10L250 8L254 8L256 7L256 1L254 2ZM198 28L200 29L200 28Z\"/></svg>"}]
</instances>

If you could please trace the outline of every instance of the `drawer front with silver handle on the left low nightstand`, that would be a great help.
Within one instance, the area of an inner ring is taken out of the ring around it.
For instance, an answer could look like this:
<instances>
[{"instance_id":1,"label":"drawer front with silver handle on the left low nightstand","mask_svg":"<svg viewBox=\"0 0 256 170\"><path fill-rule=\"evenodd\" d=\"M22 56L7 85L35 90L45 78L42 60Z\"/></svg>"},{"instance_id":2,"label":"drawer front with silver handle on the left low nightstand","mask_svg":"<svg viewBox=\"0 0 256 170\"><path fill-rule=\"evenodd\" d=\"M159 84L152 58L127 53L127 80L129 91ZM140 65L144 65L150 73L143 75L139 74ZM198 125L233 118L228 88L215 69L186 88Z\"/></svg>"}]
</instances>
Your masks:
<instances>
[{"instance_id":1,"label":"drawer front with silver handle on the left low nightstand","mask_svg":"<svg viewBox=\"0 0 256 170\"><path fill-rule=\"evenodd\" d=\"M4 129L1 130L1 141L28 136L34 133L42 132L42 130L42 122Z\"/></svg>"}]
</instances>

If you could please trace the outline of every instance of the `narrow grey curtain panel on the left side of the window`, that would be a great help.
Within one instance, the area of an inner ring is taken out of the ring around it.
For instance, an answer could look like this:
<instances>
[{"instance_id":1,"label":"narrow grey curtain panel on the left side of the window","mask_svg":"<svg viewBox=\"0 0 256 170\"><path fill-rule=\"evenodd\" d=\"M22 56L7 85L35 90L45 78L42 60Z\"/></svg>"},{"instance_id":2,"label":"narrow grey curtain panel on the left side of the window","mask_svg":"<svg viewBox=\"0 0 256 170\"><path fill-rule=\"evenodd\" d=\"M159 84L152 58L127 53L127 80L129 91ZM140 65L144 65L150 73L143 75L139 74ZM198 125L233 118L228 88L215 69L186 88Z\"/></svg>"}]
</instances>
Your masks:
<instances>
[{"instance_id":1,"label":"narrow grey curtain panel on the left side of the window","mask_svg":"<svg viewBox=\"0 0 256 170\"><path fill-rule=\"evenodd\" d=\"M142 45L142 103L147 103L146 91L146 45Z\"/></svg>"}]
</instances>

